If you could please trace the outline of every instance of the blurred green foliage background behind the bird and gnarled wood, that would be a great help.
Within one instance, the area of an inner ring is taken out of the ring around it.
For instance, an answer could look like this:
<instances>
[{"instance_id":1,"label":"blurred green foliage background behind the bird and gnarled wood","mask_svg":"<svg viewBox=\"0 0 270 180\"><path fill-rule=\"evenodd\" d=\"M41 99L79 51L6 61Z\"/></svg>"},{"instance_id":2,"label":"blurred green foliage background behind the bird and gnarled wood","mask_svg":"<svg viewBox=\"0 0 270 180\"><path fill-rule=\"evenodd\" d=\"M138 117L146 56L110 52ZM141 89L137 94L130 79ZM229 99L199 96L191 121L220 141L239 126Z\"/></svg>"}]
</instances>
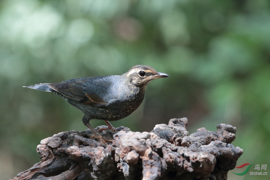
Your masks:
<instances>
[{"instance_id":1,"label":"blurred green foliage background behind the bird and gnarled wood","mask_svg":"<svg viewBox=\"0 0 270 180\"><path fill-rule=\"evenodd\" d=\"M170 77L152 81L115 127L151 131L187 117L191 134L231 124L232 144L244 149L237 165L270 166L269 0L2 0L0 179L39 162L40 140L86 129L65 100L22 86L120 75L137 64ZM269 168L228 179L268 179Z\"/></svg>"}]
</instances>

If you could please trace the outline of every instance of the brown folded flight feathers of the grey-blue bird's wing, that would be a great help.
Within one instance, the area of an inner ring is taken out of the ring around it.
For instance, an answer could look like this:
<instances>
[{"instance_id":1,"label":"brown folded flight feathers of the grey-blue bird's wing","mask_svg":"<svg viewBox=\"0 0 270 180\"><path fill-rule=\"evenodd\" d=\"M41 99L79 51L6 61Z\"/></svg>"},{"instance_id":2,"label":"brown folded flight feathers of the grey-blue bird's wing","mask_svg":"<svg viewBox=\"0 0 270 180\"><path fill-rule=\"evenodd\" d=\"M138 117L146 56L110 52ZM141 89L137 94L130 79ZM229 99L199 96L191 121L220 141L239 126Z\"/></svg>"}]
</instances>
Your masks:
<instances>
[{"instance_id":1,"label":"brown folded flight feathers of the grey-blue bird's wing","mask_svg":"<svg viewBox=\"0 0 270 180\"><path fill-rule=\"evenodd\" d=\"M100 98L97 94L83 93L83 85L77 81L75 83L51 83L48 84L48 86L63 96L83 104L92 106L106 106L108 103Z\"/></svg>"}]
</instances>

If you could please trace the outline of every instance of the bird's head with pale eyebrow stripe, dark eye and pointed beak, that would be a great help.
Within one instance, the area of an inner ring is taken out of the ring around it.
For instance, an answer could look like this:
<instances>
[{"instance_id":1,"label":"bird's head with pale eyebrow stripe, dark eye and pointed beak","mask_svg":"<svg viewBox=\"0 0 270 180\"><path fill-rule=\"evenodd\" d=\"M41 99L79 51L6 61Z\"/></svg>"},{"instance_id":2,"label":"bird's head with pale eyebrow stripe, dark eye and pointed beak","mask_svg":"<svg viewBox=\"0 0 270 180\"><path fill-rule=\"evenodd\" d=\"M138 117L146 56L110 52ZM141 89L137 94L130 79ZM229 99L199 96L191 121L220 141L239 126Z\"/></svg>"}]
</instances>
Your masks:
<instances>
[{"instance_id":1,"label":"bird's head with pale eyebrow stripe, dark eye and pointed beak","mask_svg":"<svg viewBox=\"0 0 270 180\"><path fill-rule=\"evenodd\" d=\"M168 74L159 73L153 67L145 65L136 65L123 74L130 84L138 87L145 87L151 80L161 77L169 77Z\"/></svg>"}]
</instances>

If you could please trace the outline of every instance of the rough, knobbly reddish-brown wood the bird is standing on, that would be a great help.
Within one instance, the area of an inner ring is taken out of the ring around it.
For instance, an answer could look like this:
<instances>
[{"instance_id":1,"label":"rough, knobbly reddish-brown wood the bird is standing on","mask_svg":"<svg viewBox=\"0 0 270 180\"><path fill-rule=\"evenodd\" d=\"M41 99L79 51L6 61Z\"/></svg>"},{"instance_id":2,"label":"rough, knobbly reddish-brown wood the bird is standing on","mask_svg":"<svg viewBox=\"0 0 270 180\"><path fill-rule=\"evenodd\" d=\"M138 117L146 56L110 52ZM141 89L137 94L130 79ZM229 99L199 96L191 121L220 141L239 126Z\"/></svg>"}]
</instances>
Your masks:
<instances>
[{"instance_id":1,"label":"rough, knobbly reddish-brown wood the bird is standing on","mask_svg":"<svg viewBox=\"0 0 270 180\"><path fill-rule=\"evenodd\" d=\"M37 146L41 161L12 180L24 179L227 179L243 150L230 144L236 128L218 124L188 136L187 118L157 124L153 131L131 132L118 127L102 135L108 146L86 131L62 132ZM102 128L100 126L97 128Z\"/></svg>"}]
</instances>

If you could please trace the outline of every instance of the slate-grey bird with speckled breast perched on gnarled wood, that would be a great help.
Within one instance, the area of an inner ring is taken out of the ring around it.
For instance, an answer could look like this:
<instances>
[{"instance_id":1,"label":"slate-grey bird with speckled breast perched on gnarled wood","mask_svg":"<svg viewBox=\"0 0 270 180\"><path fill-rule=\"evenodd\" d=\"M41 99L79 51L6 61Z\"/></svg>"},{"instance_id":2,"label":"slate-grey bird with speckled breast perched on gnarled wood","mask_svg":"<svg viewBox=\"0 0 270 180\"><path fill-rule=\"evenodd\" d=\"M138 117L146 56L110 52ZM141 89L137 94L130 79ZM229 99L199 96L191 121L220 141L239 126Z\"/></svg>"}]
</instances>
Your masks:
<instances>
[{"instance_id":1,"label":"slate-grey bird with speckled breast perched on gnarled wood","mask_svg":"<svg viewBox=\"0 0 270 180\"><path fill-rule=\"evenodd\" d=\"M129 116L144 99L147 84L158 78L169 77L157 72L153 67L136 65L122 75L96 76L70 79L60 83L40 83L23 86L47 91L62 97L72 106L84 113L83 124L86 125L103 144L103 137L89 124L91 119L104 120L107 128L115 128L109 121L116 121Z\"/></svg>"}]
</instances>

